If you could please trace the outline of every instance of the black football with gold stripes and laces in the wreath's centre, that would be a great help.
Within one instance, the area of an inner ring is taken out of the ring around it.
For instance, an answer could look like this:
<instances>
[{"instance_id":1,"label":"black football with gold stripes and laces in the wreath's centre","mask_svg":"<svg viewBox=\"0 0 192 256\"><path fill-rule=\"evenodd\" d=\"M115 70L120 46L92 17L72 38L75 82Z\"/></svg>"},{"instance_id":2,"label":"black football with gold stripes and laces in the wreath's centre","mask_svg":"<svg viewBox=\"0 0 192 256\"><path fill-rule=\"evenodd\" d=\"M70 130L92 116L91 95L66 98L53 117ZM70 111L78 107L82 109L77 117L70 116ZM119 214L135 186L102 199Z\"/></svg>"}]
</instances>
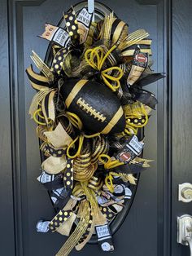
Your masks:
<instances>
[{"instance_id":1,"label":"black football with gold stripes and laces in the wreath's centre","mask_svg":"<svg viewBox=\"0 0 192 256\"><path fill-rule=\"evenodd\" d=\"M107 86L84 79L61 79L59 83L68 111L81 119L84 130L103 135L124 131L124 110Z\"/></svg>"}]
</instances>

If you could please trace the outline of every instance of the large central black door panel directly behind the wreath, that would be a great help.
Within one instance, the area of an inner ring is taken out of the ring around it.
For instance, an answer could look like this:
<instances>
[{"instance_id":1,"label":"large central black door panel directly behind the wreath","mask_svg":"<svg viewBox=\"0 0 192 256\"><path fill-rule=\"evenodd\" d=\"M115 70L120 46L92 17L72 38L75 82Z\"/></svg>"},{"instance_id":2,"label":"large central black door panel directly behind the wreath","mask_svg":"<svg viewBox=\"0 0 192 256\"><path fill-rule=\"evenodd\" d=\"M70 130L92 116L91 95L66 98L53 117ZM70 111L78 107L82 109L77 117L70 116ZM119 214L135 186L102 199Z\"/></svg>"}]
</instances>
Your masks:
<instances>
[{"instance_id":1,"label":"large central black door panel directly behind the wreath","mask_svg":"<svg viewBox=\"0 0 192 256\"><path fill-rule=\"evenodd\" d=\"M22 136L20 137L20 148L22 148L22 174L21 174L21 191L22 191L22 218L24 219L23 236L24 255L54 255L59 247L63 245L64 237L58 234L39 234L35 230L35 225L39 219L50 219L53 217L53 210L50 199L46 191L37 182L37 176L40 174L40 156L38 150L38 140L35 137L36 125L28 117L28 108L34 95L34 90L29 86L28 79L24 76L24 68L31 64L29 55L34 50L43 59L46 54L48 42L37 38L44 29L44 24L49 21L51 24L57 24L62 16L62 12L68 10L74 1L19 1L16 2L16 21L15 28L17 35L17 58L18 58L18 90L20 96L20 127L22 127ZM164 51L159 42L162 42L162 4L142 1L103 1L111 9L116 11L122 20L129 23L130 31L144 28L153 38L153 58L155 60L154 69L164 70L162 59ZM161 16L161 19L160 19ZM157 61L159 60L159 62ZM163 91L164 84L159 82ZM159 98L157 85L149 86ZM161 94L162 98L163 95ZM162 99L159 99L162 103ZM162 106L164 105L164 101ZM141 175L137 194L133 202L132 209L126 218L124 225L114 236L116 242L115 255L124 255L129 250L130 255L142 256L157 255L158 241L162 228L162 223L158 222L159 212L157 205L159 198L162 197L163 191L158 189L158 184L163 183L164 176L163 163L157 168L157 153L161 148L157 148L157 117L162 119L162 106L157 113L153 113L149 126L146 128L146 148L144 157L154 159L151 169ZM20 156L21 157L21 156ZM159 205L159 208L163 205ZM159 233L158 233L159 232ZM137 238L136 238L137 237ZM145 237L145 240L143 239ZM160 243L161 241L159 241ZM98 246L87 245L79 254L100 253ZM76 252L72 252L76 255ZM160 254L159 254L160 255Z\"/></svg>"}]
</instances>

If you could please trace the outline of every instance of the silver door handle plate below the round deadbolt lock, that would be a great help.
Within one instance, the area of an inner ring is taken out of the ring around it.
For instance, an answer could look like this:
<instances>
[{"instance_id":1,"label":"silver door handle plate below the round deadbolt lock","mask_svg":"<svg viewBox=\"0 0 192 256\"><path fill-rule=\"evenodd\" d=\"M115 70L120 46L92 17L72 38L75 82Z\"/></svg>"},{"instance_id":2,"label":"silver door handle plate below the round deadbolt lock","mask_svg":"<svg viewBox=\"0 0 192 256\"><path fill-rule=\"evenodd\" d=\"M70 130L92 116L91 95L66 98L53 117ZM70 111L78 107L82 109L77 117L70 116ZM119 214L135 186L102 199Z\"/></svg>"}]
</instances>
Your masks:
<instances>
[{"instance_id":1,"label":"silver door handle plate below the round deadbolt lock","mask_svg":"<svg viewBox=\"0 0 192 256\"><path fill-rule=\"evenodd\" d=\"M177 242L190 246L192 256L192 216L188 214L177 217Z\"/></svg>"}]
</instances>

